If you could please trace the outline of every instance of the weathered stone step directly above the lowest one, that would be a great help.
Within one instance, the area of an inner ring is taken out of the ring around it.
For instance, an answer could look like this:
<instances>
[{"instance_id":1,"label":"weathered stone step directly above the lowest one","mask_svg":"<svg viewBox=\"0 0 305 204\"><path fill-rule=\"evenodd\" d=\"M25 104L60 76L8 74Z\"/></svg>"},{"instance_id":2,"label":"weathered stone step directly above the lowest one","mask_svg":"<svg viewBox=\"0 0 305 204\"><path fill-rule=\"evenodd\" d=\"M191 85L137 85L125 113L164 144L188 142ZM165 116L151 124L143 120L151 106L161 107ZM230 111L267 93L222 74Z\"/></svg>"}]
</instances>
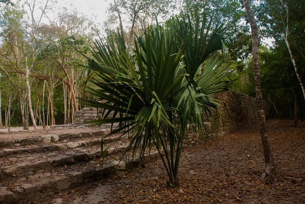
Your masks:
<instances>
[{"instance_id":1,"label":"weathered stone step directly above the lowest one","mask_svg":"<svg viewBox=\"0 0 305 204\"><path fill-rule=\"evenodd\" d=\"M113 143L105 156L123 153L128 147L129 141ZM106 148L105 144L105 147ZM101 148L98 146L88 148L75 148L68 151L56 151L37 154L24 154L16 157L0 160L0 178L21 177L33 174L38 170L50 170L58 166L76 164L101 158Z\"/></svg>"}]
</instances>

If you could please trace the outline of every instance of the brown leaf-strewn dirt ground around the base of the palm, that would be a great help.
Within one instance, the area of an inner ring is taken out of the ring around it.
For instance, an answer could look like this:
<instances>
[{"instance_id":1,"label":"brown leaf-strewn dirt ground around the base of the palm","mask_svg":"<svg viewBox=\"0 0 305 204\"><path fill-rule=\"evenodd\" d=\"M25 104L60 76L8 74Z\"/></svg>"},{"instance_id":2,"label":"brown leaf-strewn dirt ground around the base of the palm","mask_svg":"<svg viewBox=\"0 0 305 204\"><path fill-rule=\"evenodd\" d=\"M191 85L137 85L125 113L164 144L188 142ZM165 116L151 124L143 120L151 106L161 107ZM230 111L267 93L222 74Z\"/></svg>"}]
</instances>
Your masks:
<instances>
[{"instance_id":1,"label":"brown leaf-strewn dirt ground around the base of the palm","mask_svg":"<svg viewBox=\"0 0 305 204\"><path fill-rule=\"evenodd\" d=\"M264 160L254 129L240 129L182 153L180 187L166 187L159 160L143 169L38 203L305 203L305 123L268 121L276 184L258 180Z\"/></svg>"}]
</instances>

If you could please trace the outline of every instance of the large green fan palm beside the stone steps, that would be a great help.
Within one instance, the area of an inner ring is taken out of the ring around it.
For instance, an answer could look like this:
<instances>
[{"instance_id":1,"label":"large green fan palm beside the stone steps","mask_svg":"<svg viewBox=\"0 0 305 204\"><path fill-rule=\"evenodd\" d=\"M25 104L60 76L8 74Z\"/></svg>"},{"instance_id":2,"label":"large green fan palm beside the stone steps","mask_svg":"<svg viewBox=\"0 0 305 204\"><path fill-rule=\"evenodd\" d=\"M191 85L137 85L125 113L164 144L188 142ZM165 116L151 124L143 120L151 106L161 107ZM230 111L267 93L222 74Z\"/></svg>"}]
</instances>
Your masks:
<instances>
[{"instance_id":1,"label":"large green fan palm beside the stone steps","mask_svg":"<svg viewBox=\"0 0 305 204\"><path fill-rule=\"evenodd\" d=\"M208 29L199 20L174 19L168 27L146 28L134 39L132 51L119 34L113 34L106 42L96 41L91 48L93 58L87 57L94 72L90 80L98 87L88 88L88 93L104 102L83 103L106 110L93 125L124 122L106 137L121 130L131 132L127 151L139 152L140 159L154 146L170 186L179 185L177 172L186 132L203 133L203 113L218 105L210 94L226 90L226 66L221 66L216 54L209 57L222 48L222 33L218 33L222 25L214 32ZM111 111L113 117L107 119Z\"/></svg>"}]
</instances>

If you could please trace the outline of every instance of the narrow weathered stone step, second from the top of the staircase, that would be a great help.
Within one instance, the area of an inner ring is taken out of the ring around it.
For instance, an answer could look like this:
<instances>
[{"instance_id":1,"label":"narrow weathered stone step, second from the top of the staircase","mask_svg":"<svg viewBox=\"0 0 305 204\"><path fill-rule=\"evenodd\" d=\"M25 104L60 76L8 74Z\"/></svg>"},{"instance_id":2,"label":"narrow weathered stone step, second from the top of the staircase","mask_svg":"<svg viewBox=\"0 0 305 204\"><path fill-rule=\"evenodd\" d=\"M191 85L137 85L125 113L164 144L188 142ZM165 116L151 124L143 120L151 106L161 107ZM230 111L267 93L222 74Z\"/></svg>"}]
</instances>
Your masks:
<instances>
[{"instance_id":1,"label":"narrow weathered stone step, second from the top of the staircase","mask_svg":"<svg viewBox=\"0 0 305 204\"><path fill-rule=\"evenodd\" d=\"M127 136L113 135L111 137L107 137L103 140L104 144L108 144L114 141L126 140ZM47 145L37 145L37 144L29 144L24 147L15 147L13 149L2 149L0 150L0 158L10 158L15 155L23 155L28 153L43 153L43 152L53 152L60 150L68 150L75 149L79 147L92 147L94 145L101 144L101 137L98 139L89 139L89 140L78 140L78 141L56 141L52 144Z\"/></svg>"}]
</instances>

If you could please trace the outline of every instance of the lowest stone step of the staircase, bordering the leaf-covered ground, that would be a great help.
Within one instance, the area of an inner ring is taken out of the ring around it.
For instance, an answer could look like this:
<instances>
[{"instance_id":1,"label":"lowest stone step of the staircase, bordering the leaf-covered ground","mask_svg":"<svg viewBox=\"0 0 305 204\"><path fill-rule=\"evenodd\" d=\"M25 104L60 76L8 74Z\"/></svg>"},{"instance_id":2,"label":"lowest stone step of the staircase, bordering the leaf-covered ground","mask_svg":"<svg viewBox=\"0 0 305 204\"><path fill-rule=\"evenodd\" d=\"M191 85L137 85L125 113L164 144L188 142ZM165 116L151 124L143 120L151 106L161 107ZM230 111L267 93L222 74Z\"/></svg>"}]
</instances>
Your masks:
<instances>
[{"instance_id":1,"label":"lowest stone step of the staircase, bordering the leaf-covered ground","mask_svg":"<svg viewBox=\"0 0 305 204\"><path fill-rule=\"evenodd\" d=\"M158 152L151 152L144 156L144 162L155 161ZM35 173L27 178L2 180L0 184L0 203L28 203L46 196L67 191L68 189L96 181L105 176L139 166L139 158L126 158L124 161L112 160L99 165L100 159L57 168L49 172ZM66 168L66 170L64 169Z\"/></svg>"}]
</instances>

